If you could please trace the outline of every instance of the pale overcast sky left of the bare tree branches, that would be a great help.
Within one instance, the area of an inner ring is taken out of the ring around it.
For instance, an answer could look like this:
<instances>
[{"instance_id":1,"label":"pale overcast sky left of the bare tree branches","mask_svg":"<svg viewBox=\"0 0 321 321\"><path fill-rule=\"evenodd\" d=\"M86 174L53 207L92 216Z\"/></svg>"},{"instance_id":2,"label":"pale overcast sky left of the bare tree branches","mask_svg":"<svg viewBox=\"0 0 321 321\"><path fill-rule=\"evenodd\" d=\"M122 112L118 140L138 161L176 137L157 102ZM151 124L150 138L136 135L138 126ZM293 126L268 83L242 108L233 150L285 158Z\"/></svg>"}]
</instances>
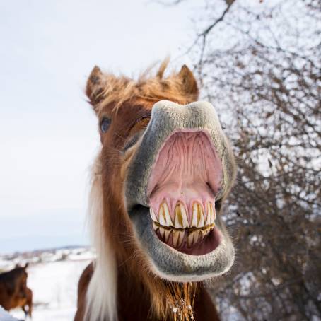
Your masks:
<instances>
[{"instance_id":1,"label":"pale overcast sky left of the bare tree branches","mask_svg":"<svg viewBox=\"0 0 321 321\"><path fill-rule=\"evenodd\" d=\"M95 64L131 76L179 56L190 16L191 5L146 0L0 2L0 252L88 243L99 139L86 77Z\"/></svg>"}]
</instances>

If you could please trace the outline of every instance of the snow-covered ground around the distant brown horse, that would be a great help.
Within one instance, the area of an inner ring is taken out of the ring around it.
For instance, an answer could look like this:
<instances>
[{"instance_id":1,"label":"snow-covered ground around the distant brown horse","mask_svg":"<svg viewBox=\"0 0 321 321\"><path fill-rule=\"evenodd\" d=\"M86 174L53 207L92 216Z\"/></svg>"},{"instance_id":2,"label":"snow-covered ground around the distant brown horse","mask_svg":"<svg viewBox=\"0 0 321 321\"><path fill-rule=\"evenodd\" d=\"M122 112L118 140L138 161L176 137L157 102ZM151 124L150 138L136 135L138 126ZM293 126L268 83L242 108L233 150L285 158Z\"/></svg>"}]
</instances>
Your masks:
<instances>
[{"instance_id":1,"label":"snow-covered ground around the distant brown horse","mask_svg":"<svg viewBox=\"0 0 321 321\"><path fill-rule=\"evenodd\" d=\"M0 257L0 269L30 262L28 287L33 291L33 321L71 321L76 311L78 279L94 254L86 248L42 251L34 255ZM18 319L21 309L11 310ZM1 321L1 319L0 319Z\"/></svg>"}]
</instances>

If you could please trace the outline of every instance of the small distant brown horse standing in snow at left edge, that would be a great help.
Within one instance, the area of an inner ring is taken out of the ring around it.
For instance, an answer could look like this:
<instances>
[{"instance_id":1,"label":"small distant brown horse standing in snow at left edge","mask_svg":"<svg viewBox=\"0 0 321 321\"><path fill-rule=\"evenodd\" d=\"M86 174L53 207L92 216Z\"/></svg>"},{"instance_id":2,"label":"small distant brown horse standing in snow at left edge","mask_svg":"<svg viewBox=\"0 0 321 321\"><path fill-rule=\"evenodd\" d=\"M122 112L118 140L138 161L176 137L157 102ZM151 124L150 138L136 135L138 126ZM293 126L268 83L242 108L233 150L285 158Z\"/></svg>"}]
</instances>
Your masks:
<instances>
[{"instance_id":1,"label":"small distant brown horse standing in snow at left edge","mask_svg":"<svg viewBox=\"0 0 321 321\"><path fill-rule=\"evenodd\" d=\"M33 291L27 287L28 273L24 267L16 265L14 269L0 274L0 305L5 310L21 307L25 316L32 316Z\"/></svg>"}]
</instances>

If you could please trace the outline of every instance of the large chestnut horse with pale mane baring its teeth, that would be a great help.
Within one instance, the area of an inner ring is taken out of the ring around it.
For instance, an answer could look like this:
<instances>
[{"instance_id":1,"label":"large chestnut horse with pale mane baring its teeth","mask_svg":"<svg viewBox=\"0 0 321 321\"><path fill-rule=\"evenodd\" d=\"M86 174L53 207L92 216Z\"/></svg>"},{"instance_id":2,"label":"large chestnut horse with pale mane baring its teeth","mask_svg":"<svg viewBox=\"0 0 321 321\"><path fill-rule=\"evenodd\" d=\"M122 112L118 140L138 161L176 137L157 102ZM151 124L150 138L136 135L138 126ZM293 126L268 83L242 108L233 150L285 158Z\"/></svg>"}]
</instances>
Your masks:
<instances>
[{"instance_id":1,"label":"large chestnut horse with pale mane baring its teeth","mask_svg":"<svg viewBox=\"0 0 321 321\"><path fill-rule=\"evenodd\" d=\"M78 282L74 321L217 321L206 282L235 250L221 218L235 158L192 71L136 81L98 66L86 83L101 148L89 221L97 257Z\"/></svg>"}]
</instances>

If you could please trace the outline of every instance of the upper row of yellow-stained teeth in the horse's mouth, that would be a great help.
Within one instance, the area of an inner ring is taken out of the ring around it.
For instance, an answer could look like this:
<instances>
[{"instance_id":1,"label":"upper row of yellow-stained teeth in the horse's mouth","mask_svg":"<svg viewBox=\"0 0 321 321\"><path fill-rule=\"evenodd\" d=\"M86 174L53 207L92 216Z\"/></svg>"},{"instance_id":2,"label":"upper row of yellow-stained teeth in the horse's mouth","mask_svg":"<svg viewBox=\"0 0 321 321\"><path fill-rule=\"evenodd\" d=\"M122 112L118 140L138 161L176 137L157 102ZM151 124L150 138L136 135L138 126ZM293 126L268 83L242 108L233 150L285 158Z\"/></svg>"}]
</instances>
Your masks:
<instances>
[{"instance_id":1,"label":"upper row of yellow-stained teeth in the horse's mouth","mask_svg":"<svg viewBox=\"0 0 321 321\"><path fill-rule=\"evenodd\" d=\"M206 204L206 212L199 202L194 202L190 219L188 219L187 211L182 202L177 202L174 210L174 219L170 216L168 204L164 201L159 207L158 216L156 216L153 209L150 207L151 219L161 226L168 226L173 228L204 228L211 227L214 224L216 215L214 206L211 202Z\"/></svg>"}]
</instances>

